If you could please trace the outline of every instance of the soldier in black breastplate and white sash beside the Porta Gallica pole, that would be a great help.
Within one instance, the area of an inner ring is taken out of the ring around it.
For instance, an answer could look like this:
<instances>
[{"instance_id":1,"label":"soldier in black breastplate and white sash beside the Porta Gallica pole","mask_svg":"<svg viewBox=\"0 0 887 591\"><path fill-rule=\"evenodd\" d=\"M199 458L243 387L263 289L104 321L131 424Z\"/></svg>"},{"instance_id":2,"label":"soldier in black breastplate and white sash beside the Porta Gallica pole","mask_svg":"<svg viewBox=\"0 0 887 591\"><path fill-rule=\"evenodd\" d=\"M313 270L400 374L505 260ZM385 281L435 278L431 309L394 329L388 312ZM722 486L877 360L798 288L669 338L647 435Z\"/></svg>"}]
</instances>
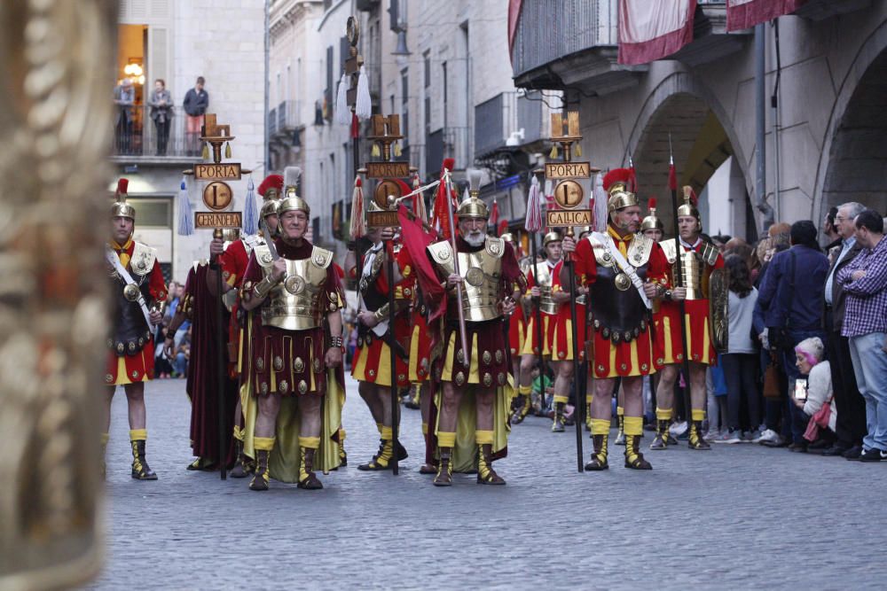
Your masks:
<instances>
[{"instance_id":1,"label":"soldier in black breastplate and white sash beside the Porta Gallica pole","mask_svg":"<svg viewBox=\"0 0 887 591\"><path fill-rule=\"evenodd\" d=\"M624 388L625 467L650 470L640 453L643 432L642 379L655 372L650 299L666 284L667 262L662 249L641 234L638 198L628 191L629 171L619 168L604 178L608 189L606 233L593 232L578 243L563 240L565 253L575 253L577 282L589 288L592 325L592 439L594 450L585 470L607 470L611 400L616 377ZM568 271L561 272L566 284ZM671 295L671 292L669 292ZM679 294L678 294L679 295Z\"/></svg>"}]
</instances>

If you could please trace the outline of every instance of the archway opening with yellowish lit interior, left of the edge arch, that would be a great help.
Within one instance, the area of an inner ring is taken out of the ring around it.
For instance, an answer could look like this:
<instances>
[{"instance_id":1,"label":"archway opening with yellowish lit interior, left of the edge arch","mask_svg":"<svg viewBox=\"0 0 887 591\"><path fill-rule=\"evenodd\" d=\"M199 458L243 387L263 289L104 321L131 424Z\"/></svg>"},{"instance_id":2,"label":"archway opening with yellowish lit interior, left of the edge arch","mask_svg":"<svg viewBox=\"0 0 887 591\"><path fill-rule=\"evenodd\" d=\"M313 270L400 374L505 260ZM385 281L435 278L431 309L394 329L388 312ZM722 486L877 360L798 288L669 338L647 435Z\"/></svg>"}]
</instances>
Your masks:
<instances>
[{"instance_id":1,"label":"archway opening with yellowish lit interior, left of the edge arch","mask_svg":"<svg viewBox=\"0 0 887 591\"><path fill-rule=\"evenodd\" d=\"M718 99L693 74L677 72L663 79L640 109L625 147L624 161L632 157L641 197L665 198L668 187L669 133L679 184L689 184L701 193L715 170L730 156L739 167L745 188L745 203L738 204L742 220L753 230L753 186L747 159L736 135L732 118ZM660 207L660 217L671 224L671 206ZM749 214L750 213L750 214ZM745 223L741 225L745 225Z\"/></svg>"}]
</instances>

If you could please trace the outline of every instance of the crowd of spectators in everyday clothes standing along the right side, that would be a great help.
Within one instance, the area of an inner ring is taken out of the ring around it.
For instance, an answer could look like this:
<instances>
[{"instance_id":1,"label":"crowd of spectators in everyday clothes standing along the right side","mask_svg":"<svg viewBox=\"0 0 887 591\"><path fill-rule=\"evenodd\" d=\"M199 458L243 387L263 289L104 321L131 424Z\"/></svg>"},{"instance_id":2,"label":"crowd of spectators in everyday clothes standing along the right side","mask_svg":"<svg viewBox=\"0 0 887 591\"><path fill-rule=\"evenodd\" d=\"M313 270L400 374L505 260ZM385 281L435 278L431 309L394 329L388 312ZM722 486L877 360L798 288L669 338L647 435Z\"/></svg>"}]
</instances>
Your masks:
<instances>
[{"instance_id":1,"label":"crowd of spectators in everyday clothes standing along the right side","mask_svg":"<svg viewBox=\"0 0 887 591\"><path fill-rule=\"evenodd\" d=\"M710 393L726 396L726 417L710 412L709 439L887 459L883 226L881 214L845 203L826 216L824 249L809 220L774 224L754 246L712 240L730 292L729 348L712 371L726 387Z\"/></svg>"}]
</instances>

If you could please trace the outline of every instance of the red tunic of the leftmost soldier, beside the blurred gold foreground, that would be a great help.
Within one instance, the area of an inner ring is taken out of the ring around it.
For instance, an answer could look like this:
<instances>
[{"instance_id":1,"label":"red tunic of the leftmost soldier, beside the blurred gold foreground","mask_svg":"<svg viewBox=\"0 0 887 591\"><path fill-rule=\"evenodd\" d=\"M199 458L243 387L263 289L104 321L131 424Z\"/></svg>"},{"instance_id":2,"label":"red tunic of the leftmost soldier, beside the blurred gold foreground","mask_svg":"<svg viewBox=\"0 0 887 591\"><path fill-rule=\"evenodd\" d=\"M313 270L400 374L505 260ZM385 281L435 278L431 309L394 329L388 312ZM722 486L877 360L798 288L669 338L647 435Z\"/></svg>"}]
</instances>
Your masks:
<instances>
[{"instance_id":1,"label":"red tunic of the leftmost soldier, beside the blurred gold foreground","mask_svg":"<svg viewBox=\"0 0 887 591\"><path fill-rule=\"evenodd\" d=\"M137 276L132 273L130 268L130 257L136 248L136 243L130 240L123 246L111 243L111 248L117 253L118 258L124 268L130 272L133 279ZM148 275L148 292L151 294L153 301L147 301L145 304L150 309L154 302L163 301L167 298L166 283L163 280L163 272L160 263L154 259L153 268ZM118 282L119 283L119 282ZM116 285L115 285L116 288ZM120 283L120 289L123 284ZM117 322L114 320L114 322ZM148 330L152 332L153 326L149 326ZM106 359L105 383L107 385L125 385L133 382L145 382L154 377L154 342L152 338L148 338L145 346L136 354L118 355L114 349L108 351Z\"/></svg>"}]
</instances>

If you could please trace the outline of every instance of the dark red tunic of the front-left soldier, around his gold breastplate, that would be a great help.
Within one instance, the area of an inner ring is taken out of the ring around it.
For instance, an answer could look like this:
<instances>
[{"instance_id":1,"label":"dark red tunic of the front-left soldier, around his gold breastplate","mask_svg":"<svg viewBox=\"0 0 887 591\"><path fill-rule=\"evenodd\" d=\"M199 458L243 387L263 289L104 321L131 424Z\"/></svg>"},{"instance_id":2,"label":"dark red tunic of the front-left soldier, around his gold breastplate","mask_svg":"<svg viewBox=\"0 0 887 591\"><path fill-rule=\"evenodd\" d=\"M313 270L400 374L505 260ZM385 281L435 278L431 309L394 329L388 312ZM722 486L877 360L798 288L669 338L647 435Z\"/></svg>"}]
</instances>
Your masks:
<instances>
[{"instance_id":1,"label":"dark red tunic of the front-left soldier, around his gold breastplate","mask_svg":"<svg viewBox=\"0 0 887 591\"><path fill-rule=\"evenodd\" d=\"M300 246L288 245L281 239L277 239L275 245L281 257L292 261L309 258L313 249L310 242L304 239ZM245 287L247 282L255 284L262 279L262 267L255 260L255 252L251 253L244 276ZM331 263L326 268L326 282L320 301L332 302L335 309L340 309L344 300L339 275ZM266 299L262 307L268 305ZM325 310L327 314L334 311L329 308ZM274 326L262 326L256 316L252 354L247 367L242 368L253 378L255 395L326 393L324 355L329 346L325 333L323 326L308 330L282 330Z\"/></svg>"}]
</instances>

